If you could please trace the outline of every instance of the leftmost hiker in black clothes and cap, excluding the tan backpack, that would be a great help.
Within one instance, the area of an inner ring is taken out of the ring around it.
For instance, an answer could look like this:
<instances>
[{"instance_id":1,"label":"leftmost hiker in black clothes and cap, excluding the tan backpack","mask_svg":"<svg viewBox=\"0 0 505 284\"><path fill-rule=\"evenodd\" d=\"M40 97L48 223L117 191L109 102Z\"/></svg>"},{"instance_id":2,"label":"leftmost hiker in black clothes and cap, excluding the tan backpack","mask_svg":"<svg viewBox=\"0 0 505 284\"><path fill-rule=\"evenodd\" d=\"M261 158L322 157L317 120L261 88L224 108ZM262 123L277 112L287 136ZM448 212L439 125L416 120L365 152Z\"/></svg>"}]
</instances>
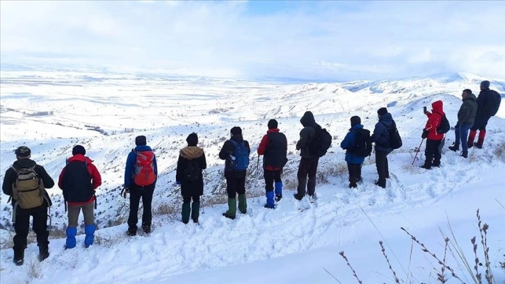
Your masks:
<instances>
[{"instance_id":1,"label":"leftmost hiker in black clothes and cap, excluding the tan backpack","mask_svg":"<svg viewBox=\"0 0 505 284\"><path fill-rule=\"evenodd\" d=\"M40 261L49 257L49 231L47 231L47 210L52 205L49 194L45 190L41 191L42 205L35 208L22 208L18 206L18 200L13 192L13 183L17 179L16 171L19 169L33 170L40 178L40 185L44 188L51 188L54 186L54 181L47 174L44 167L37 165L31 158L31 150L28 147L22 146L15 151L17 160L13 166L10 167L6 175L3 177L2 190L4 194L13 197L13 223L16 235L14 236L14 263L16 265L23 265L24 263L24 249L26 249L26 237L28 237L30 216L33 217L33 231L37 235L37 245L39 249L38 259Z\"/></svg>"}]
</instances>

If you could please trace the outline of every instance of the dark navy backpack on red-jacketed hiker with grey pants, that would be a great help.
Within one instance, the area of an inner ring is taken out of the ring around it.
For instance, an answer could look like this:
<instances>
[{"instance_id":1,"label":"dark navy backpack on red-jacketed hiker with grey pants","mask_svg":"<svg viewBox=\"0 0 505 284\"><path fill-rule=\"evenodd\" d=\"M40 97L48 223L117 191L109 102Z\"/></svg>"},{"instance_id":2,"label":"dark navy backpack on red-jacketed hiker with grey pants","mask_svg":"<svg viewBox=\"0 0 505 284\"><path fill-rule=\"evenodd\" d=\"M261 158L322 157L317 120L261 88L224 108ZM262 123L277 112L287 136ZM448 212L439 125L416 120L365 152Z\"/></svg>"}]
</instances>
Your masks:
<instances>
[{"instance_id":1,"label":"dark navy backpack on red-jacketed hiker with grey pants","mask_svg":"<svg viewBox=\"0 0 505 284\"><path fill-rule=\"evenodd\" d=\"M88 159L84 161L67 161L65 172L61 179L63 199L67 202L86 202L95 195L92 176L88 171Z\"/></svg>"}]
</instances>

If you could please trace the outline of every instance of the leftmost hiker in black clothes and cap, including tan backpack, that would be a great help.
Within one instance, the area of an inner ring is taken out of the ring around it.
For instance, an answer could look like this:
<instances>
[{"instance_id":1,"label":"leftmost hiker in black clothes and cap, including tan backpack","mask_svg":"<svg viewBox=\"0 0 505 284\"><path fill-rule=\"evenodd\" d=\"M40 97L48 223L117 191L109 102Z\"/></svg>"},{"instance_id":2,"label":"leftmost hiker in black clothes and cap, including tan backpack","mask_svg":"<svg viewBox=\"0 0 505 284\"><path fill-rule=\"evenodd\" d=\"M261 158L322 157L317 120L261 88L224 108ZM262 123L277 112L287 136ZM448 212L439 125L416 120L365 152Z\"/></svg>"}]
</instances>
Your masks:
<instances>
[{"instance_id":1,"label":"leftmost hiker in black clothes and cap, including tan backpack","mask_svg":"<svg viewBox=\"0 0 505 284\"><path fill-rule=\"evenodd\" d=\"M30 217L33 217L33 231L37 235L38 260L49 257L49 231L47 231L47 211L52 205L45 188L54 186L54 181L44 167L31 160L31 150L26 146L15 150L16 160L3 176L2 190L12 197L14 224L14 263L23 265L24 249L30 228ZM22 176L35 176L24 181L17 181ZM35 184L33 184L35 181ZM43 185L43 186L40 186ZM35 186L35 189L33 188ZM20 198L20 196L30 198Z\"/></svg>"}]
</instances>

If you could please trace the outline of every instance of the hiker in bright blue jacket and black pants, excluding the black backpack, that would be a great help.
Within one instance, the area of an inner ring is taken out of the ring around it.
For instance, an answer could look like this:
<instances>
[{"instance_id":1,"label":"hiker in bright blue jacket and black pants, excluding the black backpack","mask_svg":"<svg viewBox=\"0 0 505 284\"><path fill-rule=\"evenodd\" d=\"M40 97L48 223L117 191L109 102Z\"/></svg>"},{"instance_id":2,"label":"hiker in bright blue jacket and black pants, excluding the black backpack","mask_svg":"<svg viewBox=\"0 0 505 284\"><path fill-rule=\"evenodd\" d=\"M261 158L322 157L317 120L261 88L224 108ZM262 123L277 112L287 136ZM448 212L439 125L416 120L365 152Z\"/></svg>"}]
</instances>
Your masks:
<instances>
[{"instance_id":1,"label":"hiker in bright blue jacket and black pants, excluding the black backpack","mask_svg":"<svg viewBox=\"0 0 505 284\"><path fill-rule=\"evenodd\" d=\"M340 143L340 147L346 150L347 169L349 171L349 188L358 187L356 183L361 180L361 167L364 162L364 157L357 156L353 153L353 148L356 147L356 131L363 129L361 118L358 116L351 117L351 129L346 137Z\"/></svg>"}]
</instances>

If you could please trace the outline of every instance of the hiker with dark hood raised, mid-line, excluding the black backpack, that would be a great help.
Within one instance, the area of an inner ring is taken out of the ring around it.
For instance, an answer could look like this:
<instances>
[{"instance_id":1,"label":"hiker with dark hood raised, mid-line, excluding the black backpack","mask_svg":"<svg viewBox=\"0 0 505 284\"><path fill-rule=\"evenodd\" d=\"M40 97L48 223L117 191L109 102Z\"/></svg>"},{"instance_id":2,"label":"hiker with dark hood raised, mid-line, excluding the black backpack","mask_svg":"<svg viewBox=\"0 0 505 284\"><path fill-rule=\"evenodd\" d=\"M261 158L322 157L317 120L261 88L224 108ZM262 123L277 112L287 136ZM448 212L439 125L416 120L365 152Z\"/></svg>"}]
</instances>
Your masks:
<instances>
[{"instance_id":1,"label":"hiker with dark hood raised, mid-line, excluding the black backpack","mask_svg":"<svg viewBox=\"0 0 505 284\"><path fill-rule=\"evenodd\" d=\"M319 155L311 146L312 140L316 136L317 131L321 130L321 126L316 124L312 112L307 111L300 119L303 129L300 131L300 140L296 143L296 150L300 150L300 165L298 166L298 188L294 198L302 200L305 197L305 187L309 199L314 199L316 193L316 173L317 164L319 163ZM308 176L308 181L307 181Z\"/></svg>"}]
</instances>

